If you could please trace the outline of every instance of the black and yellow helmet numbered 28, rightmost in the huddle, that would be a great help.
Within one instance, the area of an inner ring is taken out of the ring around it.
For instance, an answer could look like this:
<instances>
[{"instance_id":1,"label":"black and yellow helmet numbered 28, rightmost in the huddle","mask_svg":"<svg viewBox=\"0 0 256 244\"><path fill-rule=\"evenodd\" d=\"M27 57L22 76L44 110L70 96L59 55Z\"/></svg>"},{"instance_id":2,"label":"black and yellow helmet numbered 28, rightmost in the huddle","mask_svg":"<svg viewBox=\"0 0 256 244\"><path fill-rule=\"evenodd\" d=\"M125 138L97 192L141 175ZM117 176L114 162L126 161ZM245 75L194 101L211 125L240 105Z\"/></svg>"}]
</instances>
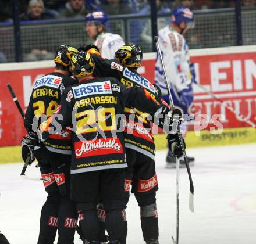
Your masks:
<instances>
[{"instance_id":1,"label":"black and yellow helmet numbered 28, rightmost in the huddle","mask_svg":"<svg viewBox=\"0 0 256 244\"><path fill-rule=\"evenodd\" d=\"M143 54L138 45L121 46L115 53L115 58L128 68L138 68L141 66Z\"/></svg>"}]
</instances>

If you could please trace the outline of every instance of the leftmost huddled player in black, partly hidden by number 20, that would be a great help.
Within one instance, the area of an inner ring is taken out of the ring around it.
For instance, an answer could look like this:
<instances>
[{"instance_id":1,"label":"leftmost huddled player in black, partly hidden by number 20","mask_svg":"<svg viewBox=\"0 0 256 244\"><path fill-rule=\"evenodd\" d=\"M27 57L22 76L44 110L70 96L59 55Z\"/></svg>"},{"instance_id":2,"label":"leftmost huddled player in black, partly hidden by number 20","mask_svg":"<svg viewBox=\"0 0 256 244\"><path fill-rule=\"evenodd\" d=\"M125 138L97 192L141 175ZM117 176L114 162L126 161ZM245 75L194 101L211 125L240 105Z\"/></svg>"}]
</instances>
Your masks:
<instances>
[{"instance_id":1,"label":"leftmost huddled player in black, partly hidden by number 20","mask_svg":"<svg viewBox=\"0 0 256 244\"><path fill-rule=\"evenodd\" d=\"M50 117L55 112L65 87L77 83L69 72L70 55L77 52L77 49L67 45L57 49L55 70L35 81L24 119L27 137L22 141L22 157L25 161L30 155L32 163L35 155L48 193L41 210L38 244L54 243L57 229L58 244L73 244L76 230L76 204L69 196L70 131L63 130L59 135L51 135L44 143L38 143L34 131L38 127L35 121L39 120L40 123L41 116Z\"/></svg>"}]
</instances>

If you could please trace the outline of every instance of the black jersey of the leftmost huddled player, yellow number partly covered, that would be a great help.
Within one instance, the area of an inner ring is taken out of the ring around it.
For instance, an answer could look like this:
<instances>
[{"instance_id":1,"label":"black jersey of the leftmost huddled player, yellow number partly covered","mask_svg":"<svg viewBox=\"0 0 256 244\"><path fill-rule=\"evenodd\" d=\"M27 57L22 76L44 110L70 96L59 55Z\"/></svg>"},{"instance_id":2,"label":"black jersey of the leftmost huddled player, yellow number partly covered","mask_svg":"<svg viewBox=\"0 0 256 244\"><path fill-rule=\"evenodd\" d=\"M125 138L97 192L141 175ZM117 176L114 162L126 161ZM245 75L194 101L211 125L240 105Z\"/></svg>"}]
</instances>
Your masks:
<instances>
[{"instance_id":1,"label":"black jersey of the leftmost huddled player, yellow number partly covered","mask_svg":"<svg viewBox=\"0 0 256 244\"><path fill-rule=\"evenodd\" d=\"M73 78L58 72L49 73L38 78L35 81L25 114L25 128L31 130L33 120L37 121L35 118L39 118L42 114L47 118L52 116L59 105L64 89L76 83L77 81ZM58 135L50 135L44 145L51 152L71 154L70 131L64 129Z\"/></svg>"}]
</instances>

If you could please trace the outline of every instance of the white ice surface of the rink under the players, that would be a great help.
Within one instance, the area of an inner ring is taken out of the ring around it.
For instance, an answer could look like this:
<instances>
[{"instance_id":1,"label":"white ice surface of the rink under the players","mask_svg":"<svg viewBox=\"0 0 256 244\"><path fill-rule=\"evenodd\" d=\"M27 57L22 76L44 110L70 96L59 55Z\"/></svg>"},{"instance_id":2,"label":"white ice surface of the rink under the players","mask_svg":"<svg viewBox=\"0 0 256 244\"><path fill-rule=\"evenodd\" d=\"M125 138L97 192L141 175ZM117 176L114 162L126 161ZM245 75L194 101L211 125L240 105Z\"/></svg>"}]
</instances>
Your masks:
<instances>
[{"instance_id":1,"label":"white ice surface of the rink under the players","mask_svg":"<svg viewBox=\"0 0 256 244\"><path fill-rule=\"evenodd\" d=\"M176 171L165 169L166 152L156 157L159 243L176 235ZM189 210L189 178L180 170L180 244L256 243L256 144L188 149L195 156L194 213ZM23 164L0 164L0 231L11 244L37 243L46 193L42 182L22 180ZM40 177L28 167L27 175ZM127 244L143 244L140 209L134 195L127 207ZM56 242L55 242L56 243ZM81 243L76 235L74 243Z\"/></svg>"}]
</instances>

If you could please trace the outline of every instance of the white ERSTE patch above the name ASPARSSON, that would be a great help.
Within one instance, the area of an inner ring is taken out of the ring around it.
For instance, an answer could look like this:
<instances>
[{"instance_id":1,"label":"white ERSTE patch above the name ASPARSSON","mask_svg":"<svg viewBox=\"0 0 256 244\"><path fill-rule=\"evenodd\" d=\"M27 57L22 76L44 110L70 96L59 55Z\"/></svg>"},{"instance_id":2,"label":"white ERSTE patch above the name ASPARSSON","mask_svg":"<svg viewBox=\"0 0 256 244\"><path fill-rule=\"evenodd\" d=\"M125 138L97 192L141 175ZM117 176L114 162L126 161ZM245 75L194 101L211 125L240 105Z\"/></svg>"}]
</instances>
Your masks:
<instances>
[{"instance_id":1,"label":"white ERSTE patch above the name ASPARSSON","mask_svg":"<svg viewBox=\"0 0 256 244\"><path fill-rule=\"evenodd\" d=\"M112 94L110 81L81 84L78 87L72 87L72 89L75 98L95 94Z\"/></svg>"}]
</instances>

